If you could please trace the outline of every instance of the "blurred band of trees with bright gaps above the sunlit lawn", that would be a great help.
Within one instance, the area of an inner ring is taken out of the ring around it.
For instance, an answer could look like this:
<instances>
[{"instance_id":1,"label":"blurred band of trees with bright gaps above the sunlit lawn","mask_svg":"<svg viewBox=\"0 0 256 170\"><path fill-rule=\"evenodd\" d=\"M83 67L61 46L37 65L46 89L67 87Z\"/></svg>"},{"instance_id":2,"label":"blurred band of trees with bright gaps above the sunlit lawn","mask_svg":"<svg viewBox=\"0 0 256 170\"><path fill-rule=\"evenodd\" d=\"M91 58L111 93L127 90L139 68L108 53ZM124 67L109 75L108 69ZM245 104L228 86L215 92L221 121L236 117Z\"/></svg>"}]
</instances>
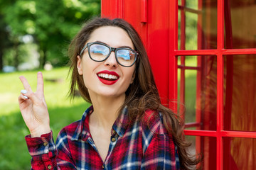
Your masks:
<instances>
[{"instance_id":1,"label":"blurred band of trees with bright gaps above the sunlit lawn","mask_svg":"<svg viewBox=\"0 0 256 170\"><path fill-rule=\"evenodd\" d=\"M0 70L65 66L70 40L92 16L100 0L1 0Z\"/></svg>"}]
</instances>

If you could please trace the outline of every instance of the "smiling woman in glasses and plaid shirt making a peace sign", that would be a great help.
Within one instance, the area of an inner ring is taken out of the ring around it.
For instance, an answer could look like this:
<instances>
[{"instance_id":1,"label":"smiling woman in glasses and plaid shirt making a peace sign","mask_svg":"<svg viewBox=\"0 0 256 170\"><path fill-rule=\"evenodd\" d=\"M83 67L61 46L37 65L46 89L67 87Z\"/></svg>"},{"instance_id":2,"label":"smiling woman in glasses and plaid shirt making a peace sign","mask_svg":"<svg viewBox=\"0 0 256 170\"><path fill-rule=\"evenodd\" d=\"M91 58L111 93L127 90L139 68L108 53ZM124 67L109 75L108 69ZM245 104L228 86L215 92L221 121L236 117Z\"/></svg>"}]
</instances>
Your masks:
<instances>
[{"instance_id":1,"label":"smiling woman in glasses and plaid shirt making a peace sign","mask_svg":"<svg viewBox=\"0 0 256 170\"><path fill-rule=\"evenodd\" d=\"M36 92L25 77L18 97L32 169L190 169L178 116L161 105L146 50L122 19L95 18L70 44L70 96L78 86L92 103L53 142L38 72Z\"/></svg>"}]
</instances>

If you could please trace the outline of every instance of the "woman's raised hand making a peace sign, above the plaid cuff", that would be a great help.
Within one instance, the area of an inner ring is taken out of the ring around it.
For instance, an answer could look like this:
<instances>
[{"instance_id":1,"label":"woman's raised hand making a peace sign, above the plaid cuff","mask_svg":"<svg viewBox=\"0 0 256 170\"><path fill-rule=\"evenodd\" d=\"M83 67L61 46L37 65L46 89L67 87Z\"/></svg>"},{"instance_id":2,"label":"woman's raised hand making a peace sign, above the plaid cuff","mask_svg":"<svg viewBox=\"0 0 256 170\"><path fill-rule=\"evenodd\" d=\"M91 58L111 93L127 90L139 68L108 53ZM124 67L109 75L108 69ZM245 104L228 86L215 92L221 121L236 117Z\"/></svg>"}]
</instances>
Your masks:
<instances>
[{"instance_id":1,"label":"woman's raised hand making a peace sign, above the plaid cuff","mask_svg":"<svg viewBox=\"0 0 256 170\"><path fill-rule=\"evenodd\" d=\"M18 96L21 115L26 123L31 137L41 137L50 132L50 118L43 94L43 74L37 74L37 89L33 92L25 77L19 77L25 90Z\"/></svg>"}]
</instances>

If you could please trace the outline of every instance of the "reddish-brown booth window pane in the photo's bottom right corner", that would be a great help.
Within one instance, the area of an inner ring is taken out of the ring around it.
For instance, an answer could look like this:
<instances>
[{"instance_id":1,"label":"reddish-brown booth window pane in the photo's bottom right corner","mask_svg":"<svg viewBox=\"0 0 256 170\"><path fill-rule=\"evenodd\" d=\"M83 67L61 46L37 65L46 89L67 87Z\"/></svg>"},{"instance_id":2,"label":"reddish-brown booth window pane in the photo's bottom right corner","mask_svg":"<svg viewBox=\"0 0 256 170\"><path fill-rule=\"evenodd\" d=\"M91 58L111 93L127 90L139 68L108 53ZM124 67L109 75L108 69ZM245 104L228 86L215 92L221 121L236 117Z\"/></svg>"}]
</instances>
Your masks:
<instances>
[{"instance_id":1,"label":"reddish-brown booth window pane in the photo's bottom right corner","mask_svg":"<svg viewBox=\"0 0 256 170\"><path fill-rule=\"evenodd\" d=\"M256 139L223 137L224 169L256 169Z\"/></svg>"}]
</instances>

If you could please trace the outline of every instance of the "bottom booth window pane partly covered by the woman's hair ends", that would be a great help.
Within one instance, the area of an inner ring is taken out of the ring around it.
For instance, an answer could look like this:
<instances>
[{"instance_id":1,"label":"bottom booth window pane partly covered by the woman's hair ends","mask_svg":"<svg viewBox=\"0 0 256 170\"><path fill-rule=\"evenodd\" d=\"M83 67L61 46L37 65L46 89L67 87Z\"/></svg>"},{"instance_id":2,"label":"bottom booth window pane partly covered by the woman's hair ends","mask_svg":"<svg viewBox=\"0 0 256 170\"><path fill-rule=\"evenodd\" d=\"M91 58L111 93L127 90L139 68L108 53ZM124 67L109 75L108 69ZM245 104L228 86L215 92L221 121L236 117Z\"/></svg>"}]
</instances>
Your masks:
<instances>
[{"instance_id":1,"label":"bottom booth window pane partly covered by the woman's hair ends","mask_svg":"<svg viewBox=\"0 0 256 170\"><path fill-rule=\"evenodd\" d=\"M216 170L216 138L186 136L186 141L191 142L188 152L191 155L202 154L202 168L207 170Z\"/></svg>"}]
</instances>

